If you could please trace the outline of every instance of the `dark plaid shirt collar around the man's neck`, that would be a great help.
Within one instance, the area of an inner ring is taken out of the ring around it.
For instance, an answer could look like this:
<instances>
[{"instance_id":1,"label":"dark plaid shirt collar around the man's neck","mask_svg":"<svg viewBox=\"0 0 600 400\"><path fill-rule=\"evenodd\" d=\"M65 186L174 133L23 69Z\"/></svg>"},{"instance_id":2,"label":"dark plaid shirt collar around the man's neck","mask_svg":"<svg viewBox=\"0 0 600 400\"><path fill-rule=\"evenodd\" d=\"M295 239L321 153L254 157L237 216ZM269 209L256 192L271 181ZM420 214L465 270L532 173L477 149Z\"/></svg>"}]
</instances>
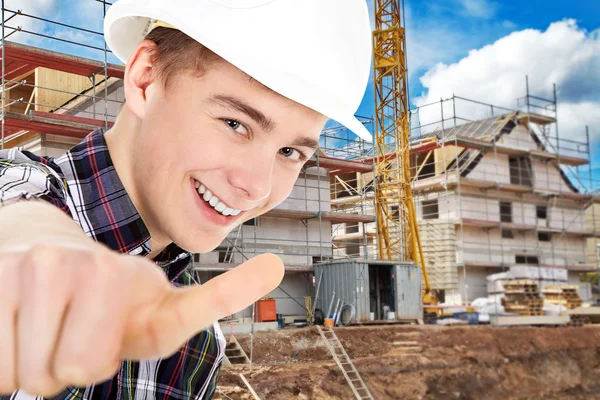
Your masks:
<instances>
[{"instance_id":1,"label":"dark plaid shirt collar around the man's neck","mask_svg":"<svg viewBox=\"0 0 600 400\"><path fill-rule=\"evenodd\" d=\"M119 253L150 253L150 232L119 179L101 128L56 164L70 192L67 202L72 217L86 235ZM189 265L191 255L173 243L154 261L174 281Z\"/></svg>"}]
</instances>

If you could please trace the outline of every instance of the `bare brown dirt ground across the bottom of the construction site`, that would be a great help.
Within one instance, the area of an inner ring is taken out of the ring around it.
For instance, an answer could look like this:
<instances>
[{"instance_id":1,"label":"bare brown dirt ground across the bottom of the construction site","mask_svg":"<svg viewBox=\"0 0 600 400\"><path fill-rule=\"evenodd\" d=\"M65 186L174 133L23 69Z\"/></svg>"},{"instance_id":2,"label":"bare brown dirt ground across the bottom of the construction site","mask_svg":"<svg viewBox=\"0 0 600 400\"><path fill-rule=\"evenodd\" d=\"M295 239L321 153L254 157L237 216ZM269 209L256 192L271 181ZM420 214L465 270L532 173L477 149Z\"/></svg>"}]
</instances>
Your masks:
<instances>
[{"instance_id":1,"label":"bare brown dirt ground across the bottom of the construction site","mask_svg":"<svg viewBox=\"0 0 600 400\"><path fill-rule=\"evenodd\" d=\"M600 326L335 332L375 399L600 399ZM263 400L353 398L315 328L256 333L253 361L224 367L215 398L252 399L241 373Z\"/></svg>"}]
</instances>

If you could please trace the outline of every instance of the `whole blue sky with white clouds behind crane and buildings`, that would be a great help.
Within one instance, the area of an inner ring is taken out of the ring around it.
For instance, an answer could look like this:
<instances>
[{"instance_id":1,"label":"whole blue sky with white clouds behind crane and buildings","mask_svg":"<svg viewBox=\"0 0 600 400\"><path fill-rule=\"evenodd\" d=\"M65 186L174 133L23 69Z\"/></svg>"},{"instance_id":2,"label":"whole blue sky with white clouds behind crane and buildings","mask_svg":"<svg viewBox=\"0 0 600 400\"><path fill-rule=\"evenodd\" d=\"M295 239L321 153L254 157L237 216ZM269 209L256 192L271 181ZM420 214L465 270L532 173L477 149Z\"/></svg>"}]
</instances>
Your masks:
<instances>
[{"instance_id":1,"label":"whole blue sky with white clouds behind crane and buildings","mask_svg":"<svg viewBox=\"0 0 600 400\"><path fill-rule=\"evenodd\" d=\"M96 0L5 0L7 7L102 31ZM366 0L372 10L372 1ZM557 84L562 138L583 140L590 127L592 158L600 167L599 0L405 0L411 106L453 94L510 108L525 94L551 97ZM101 35L50 26L24 18L13 25L46 35L103 47ZM23 33L13 40L90 58L103 53ZM109 55L109 61L117 62ZM373 115L373 84L358 115ZM469 107L466 118L486 115ZM421 123L435 119L419 113ZM600 171L600 170L599 170Z\"/></svg>"}]
</instances>

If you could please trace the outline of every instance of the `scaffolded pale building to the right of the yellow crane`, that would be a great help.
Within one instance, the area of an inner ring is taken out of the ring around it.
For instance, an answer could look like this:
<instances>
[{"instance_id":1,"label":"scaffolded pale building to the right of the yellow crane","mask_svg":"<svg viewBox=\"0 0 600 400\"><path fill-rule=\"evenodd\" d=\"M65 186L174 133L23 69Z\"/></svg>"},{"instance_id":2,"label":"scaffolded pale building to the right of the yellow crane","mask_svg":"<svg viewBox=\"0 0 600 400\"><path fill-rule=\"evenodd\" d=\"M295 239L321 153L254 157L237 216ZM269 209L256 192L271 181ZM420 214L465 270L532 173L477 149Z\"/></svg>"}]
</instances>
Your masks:
<instances>
[{"instance_id":1,"label":"scaffolded pale building to the right of the yellow crane","mask_svg":"<svg viewBox=\"0 0 600 400\"><path fill-rule=\"evenodd\" d=\"M589 131L559 136L556 88L547 99L527 84L517 105L452 96L412 112L419 228L432 287L448 302L486 296L482 275L514 265L598 269Z\"/></svg>"}]
</instances>

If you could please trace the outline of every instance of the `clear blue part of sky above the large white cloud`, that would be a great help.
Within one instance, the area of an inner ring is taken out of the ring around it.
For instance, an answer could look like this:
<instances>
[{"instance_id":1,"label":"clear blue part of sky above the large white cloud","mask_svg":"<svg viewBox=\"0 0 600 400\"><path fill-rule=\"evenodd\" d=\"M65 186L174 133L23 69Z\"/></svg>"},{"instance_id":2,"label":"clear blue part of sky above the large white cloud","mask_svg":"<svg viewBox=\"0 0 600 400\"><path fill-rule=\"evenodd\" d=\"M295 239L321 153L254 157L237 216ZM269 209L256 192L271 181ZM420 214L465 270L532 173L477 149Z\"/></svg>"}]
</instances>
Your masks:
<instances>
[{"instance_id":1,"label":"clear blue part of sky above the large white cloud","mask_svg":"<svg viewBox=\"0 0 600 400\"><path fill-rule=\"evenodd\" d=\"M371 10L372 0L368 3ZM419 77L435 64L458 62L512 32L544 31L565 19L575 19L588 32L600 29L598 0L405 0L405 12L411 99L426 90ZM524 88L524 82L515 84ZM373 114L372 92L371 85L359 115Z\"/></svg>"}]
</instances>

